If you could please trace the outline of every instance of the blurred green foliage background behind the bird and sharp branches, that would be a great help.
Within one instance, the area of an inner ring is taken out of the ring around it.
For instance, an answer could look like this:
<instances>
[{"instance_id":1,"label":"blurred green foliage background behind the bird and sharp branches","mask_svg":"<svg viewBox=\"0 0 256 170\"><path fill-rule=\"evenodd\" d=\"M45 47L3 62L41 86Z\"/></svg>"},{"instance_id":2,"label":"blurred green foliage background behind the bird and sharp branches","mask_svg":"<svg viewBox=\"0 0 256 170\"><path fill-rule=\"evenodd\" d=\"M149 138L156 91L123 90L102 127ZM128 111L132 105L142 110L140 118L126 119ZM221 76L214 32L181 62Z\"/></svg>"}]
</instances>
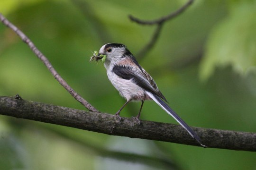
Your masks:
<instances>
[{"instance_id":1,"label":"blurred green foliage background behind the bird and sharp branches","mask_svg":"<svg viewBox=\"0 0 256 170\"><path fill-rule=\"evenodd\" d=\"M92 51L123 43L136 54L155 19L186 0L1 0L0 12L98 110L125 102ZM163 26L139 63L190 126L256 132L256 0L195 0ZM0 95L85 110L9 28L0 24ZM136 116L130 103L121 116ZM176 123L154 102L141 119ZM256 153L173 144L0 115L0 170L256 170Z\"/></svg>"}]
</instances>

